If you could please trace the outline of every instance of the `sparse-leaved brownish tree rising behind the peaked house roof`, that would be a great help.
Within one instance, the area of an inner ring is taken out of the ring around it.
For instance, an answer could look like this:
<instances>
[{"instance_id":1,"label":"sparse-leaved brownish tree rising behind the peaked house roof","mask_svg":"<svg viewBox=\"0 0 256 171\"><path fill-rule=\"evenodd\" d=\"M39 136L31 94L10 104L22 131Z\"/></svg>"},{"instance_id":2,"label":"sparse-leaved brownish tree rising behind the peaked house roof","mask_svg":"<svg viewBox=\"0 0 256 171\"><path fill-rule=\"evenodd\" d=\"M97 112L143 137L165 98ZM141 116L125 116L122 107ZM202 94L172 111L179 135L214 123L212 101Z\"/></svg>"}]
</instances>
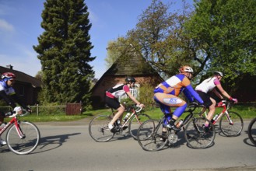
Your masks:
<instances>
[{"instance_id":1,"label":"sparse-leaved brownish tree rising behind the peaked house roof","mask_svg":"<svg viewBox=\"0 0 256 171\"><path fill-rule=\"evenodd\" d=\"M153 0L139 16L136 28L128 32L137 51L165 75L174 75L181 65L191 64L195 54L189 51L190 41L183 36L183 24L190 14L188 5L184 3L182 13L169 12L170 5Z\"/></svg>"}]
</instances>

